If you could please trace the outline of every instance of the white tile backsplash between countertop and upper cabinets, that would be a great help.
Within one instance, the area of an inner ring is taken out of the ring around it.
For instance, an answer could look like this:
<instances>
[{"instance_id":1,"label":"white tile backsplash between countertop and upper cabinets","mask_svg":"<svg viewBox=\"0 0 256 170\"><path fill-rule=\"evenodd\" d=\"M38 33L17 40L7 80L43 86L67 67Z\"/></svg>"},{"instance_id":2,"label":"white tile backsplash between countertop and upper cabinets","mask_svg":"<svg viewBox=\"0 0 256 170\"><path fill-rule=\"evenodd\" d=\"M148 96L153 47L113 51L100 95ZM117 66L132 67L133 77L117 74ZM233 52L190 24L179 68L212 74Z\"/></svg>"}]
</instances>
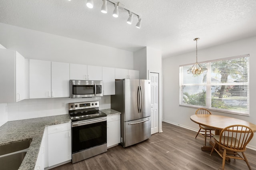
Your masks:
<instances>
[{"instance_id":1,"label":"white tile backsplash between countertop and upper cabinets","mask_svg":"<svg viewBox=\"0 0 256 170\"><path fill-rule=\"evenodd\" d=\"M110 109L110 96L76 99L69 97L25 99L16 103L7 103L8 121L68 114L68 103L85 101L99 101L100 110ZM1 108L5 109L5 106Z\"/></svg>"}]
</instances>

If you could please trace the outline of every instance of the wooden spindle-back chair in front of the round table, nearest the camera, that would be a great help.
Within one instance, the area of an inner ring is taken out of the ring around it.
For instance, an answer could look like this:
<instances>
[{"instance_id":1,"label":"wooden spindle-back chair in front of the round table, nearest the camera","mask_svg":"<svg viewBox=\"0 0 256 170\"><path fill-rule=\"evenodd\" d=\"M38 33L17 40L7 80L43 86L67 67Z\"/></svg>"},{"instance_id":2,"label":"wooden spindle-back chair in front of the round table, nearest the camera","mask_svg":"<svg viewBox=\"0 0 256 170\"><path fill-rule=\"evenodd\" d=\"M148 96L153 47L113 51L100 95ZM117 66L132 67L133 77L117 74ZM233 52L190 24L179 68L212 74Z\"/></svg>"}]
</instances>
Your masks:
<instances>
[{"instance_id":1,"label":"wooden spindle-back chair in front of the round table, nearest the camera","mask_svg":"<svg viewBox=\"0 0 256 170\"><path fill-rule=\"evenodd\" d=\"M222 169L224 169L226 158L234 158L244 160L251 170L252 168L244 155L244 151L246 151L246 145L252 139L253 134L252 129L244 125L228 126L220 132L220 135L213 135L215 143L210 155L216 150L223 158ZM217 145L220 147L216 147ZM238 154L238 152L241 152L243 156Z\"/></svg>"}]
</instances>

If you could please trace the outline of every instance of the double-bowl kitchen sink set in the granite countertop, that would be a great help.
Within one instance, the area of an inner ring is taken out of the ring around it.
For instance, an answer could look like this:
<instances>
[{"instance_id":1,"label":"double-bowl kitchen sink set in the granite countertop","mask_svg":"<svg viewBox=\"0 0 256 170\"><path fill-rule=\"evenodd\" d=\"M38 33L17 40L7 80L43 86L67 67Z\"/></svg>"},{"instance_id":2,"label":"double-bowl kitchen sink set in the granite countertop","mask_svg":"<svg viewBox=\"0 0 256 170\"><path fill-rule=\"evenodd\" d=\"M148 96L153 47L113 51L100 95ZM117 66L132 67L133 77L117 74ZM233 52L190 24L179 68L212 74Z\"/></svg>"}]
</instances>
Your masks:
<instances>
[{"instance_id":1,"label":"double-bowl kitchen sink set in the granite countertop","mask_svg":"<svg viewBox=\"0 0 256 170\"><path fill-rule=\"evenodd\" d=\"M0 146L1 170L18 170L32 139L22 140Z\"/></svg>"}]
</instances>

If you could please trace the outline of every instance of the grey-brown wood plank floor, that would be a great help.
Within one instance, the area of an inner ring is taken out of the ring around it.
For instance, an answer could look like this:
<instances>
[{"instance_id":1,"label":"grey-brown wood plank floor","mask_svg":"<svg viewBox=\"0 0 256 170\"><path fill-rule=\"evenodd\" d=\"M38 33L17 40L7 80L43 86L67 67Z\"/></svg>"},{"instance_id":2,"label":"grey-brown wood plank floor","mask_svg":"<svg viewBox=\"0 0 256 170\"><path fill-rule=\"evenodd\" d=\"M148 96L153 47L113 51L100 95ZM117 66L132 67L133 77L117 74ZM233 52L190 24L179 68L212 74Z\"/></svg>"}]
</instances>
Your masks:
<instances>
[{"instance_id":1,"label":"grey-brown wood plank floor","mask_svg":"<svg viewBox=\"0 0 256 170\"><path fill-rule=\"evenodd\" d=\"M214 152L202 151L204 138L196 132L169 123L162 124L163 132L148 140L123 148L114 146L108 152L52 170L220 170L222 158ZM245 152L252 169L256 170L256 151ZM246 170L243 160L231 159L226 170Z\"/></svg>"}]
</instances>

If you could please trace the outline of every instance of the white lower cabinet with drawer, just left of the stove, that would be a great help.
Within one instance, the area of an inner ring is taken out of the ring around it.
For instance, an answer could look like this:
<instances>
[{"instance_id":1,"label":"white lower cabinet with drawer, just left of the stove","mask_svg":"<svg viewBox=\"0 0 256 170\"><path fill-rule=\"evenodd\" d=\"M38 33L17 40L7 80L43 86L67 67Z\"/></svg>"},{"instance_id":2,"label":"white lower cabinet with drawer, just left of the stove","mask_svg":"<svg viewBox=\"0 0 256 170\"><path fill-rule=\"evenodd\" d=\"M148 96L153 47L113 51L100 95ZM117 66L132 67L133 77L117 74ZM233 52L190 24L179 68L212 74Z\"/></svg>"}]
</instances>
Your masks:
<instances>
[{"instance_id":1,"label":"white lower cabinet with drawer, just left of the stove","mask_svg":"<svg viewBox=\"0 0 256 170\"><path fill-rule=\"evenodd\" d=\"M48 166L71 160L71 123L48 127Z\"/></svg>"}]
</instances>

